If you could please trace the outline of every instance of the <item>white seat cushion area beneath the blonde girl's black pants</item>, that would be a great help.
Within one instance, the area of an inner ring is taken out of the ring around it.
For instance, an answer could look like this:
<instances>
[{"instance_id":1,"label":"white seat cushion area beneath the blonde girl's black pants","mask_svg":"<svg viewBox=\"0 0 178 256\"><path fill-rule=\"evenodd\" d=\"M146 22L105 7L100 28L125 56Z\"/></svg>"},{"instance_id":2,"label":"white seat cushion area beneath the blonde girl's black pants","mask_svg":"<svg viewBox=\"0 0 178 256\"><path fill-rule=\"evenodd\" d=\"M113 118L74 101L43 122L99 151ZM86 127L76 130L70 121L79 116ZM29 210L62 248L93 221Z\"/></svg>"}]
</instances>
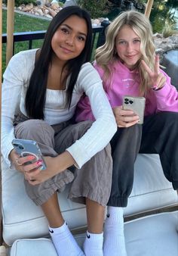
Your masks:
<instances>
[{"instance_id":1,"label":"white seat cushion area beneath the blonde girl's black pants","mask_svg":"<svg viewBox=\"0 0 178 256\"><path fill-rule=\"evenodd\" d=\"M134 168L133 189L124 215L178 203L176 191L165 178L158 155L138 155Z\"/></svg>"}]
</instances>

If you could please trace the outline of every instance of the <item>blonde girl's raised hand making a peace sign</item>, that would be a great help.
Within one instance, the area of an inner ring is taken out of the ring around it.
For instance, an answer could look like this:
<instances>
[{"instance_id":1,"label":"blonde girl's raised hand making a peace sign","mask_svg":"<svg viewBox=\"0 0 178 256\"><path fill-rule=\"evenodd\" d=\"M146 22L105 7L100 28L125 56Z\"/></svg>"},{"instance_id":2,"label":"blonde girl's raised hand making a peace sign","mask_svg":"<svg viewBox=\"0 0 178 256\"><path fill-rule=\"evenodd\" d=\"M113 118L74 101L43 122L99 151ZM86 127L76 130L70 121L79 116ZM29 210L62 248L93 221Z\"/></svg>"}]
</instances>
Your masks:
<instances>
[{"instance_id":1,"label":"blonde girl's raised hand making a peace sign","mask_svg":"<svg viewBox=\"0 0 178 256\"><path fill-rule=\"evenodd\" d=\"M166 82L166 76L164 76L164 74L159 70L159 55L155 56L155 67L153 71L149 68L145 61L142 60L141 62L144 69L149 74L149 85L151 88L155 91L161 89Z\"/></svg>"}]
</instances>

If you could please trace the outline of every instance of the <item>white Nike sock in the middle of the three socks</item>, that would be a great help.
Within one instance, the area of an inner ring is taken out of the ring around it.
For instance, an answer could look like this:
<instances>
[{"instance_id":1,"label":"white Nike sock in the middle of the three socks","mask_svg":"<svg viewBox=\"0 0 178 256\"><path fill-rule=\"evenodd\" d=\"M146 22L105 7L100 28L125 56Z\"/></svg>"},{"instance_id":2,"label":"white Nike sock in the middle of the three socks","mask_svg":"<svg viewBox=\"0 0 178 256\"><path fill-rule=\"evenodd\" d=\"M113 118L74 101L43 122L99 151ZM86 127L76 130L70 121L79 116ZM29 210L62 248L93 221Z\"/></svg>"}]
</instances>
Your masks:
<instances>
[{"instance_id":1,"label":"white Nike sock in the middle of the three socks","mask_svg":"<svg viewBox=\"0 0 178 256\"><path fill-rule=\"evenodd\" d=\"M87 231L83 248L86 256L103 256L103 233L94 234Z\"/></svg>"}]
</instances>

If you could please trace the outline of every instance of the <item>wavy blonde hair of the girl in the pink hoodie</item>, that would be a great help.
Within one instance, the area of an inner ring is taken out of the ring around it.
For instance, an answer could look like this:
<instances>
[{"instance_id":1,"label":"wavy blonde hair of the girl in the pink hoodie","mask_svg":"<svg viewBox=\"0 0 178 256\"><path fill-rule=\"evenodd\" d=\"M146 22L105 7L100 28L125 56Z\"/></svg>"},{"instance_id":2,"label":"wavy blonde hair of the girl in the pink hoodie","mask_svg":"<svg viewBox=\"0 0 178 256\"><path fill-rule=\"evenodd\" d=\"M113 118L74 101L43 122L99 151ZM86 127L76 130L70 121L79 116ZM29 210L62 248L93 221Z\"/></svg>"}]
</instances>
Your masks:
<instances>
[{"instance_id":1,"label":"wavy blonde hair of the girl in the pink hoodie","mask_svg":"<svg viewBox=\"0 0 178 256\"><path fill-rule=\"evenodd\" d=\"M152 36L152 26L149 19L138 11L124 11L112 23L106 31L106 42L96 50L95 59L97 64L103 68L103 82L112 81L112 64L119 59L115 53L115 38L119 30L127 24L134 33L141 39L140 52L146 64L153 70L155 64L155 44ZM140 61L137 62L136 69L140 76L140 96L146 95L149 90L149 75L143 69Z\"/></svg>"}]
</instances>

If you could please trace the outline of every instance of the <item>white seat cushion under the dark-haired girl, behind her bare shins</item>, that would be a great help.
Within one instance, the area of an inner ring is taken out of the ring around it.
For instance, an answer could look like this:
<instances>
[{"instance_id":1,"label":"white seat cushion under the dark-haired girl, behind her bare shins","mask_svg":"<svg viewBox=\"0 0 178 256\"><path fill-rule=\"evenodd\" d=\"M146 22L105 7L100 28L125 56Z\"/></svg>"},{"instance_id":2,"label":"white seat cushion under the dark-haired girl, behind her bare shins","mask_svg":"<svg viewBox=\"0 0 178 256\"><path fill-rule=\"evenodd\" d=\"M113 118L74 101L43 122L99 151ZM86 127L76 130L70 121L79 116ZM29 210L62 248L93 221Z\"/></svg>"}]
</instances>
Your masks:
<instances>
[{"instance_id":1,"label":"white seat cushion under the dark-haired girl, behind her bare shins","mask_svg":"<svg viewBox=\"0 0 178 256\"><path fill-rule=\"evenodd\" d=\"M67 199L67 189L59 194L60 208L70 229L86 225L85 206ZM26 195L23 175L5 168L2 161L3 239L11 245L16 239L48 235L48 221L41 208Z\"/></svg>"}]
</instances>

